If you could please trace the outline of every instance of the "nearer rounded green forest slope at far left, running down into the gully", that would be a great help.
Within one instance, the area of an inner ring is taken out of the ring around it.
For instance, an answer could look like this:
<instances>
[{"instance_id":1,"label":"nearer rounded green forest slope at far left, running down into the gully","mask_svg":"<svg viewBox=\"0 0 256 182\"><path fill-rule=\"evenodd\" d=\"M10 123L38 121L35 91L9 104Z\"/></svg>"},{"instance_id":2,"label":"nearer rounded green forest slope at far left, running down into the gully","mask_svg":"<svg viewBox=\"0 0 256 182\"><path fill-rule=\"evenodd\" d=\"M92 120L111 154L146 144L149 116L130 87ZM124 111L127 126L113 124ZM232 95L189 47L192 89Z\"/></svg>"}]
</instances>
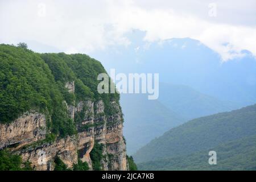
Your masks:
<instances>
[{"instance_id":1,"label":"nearer rounded green forest slope at far left, running down into the gully","mask_svg":"<svg viewBox=\"0 0 256 182\"><path fill-rule=\"evenodd\" d=\"M48 117L48 127L61 137L75 134L68 119L58 84L38 53L1 44L0 122L9 123L28 110L39 110Z\"/></svg>"}]
</instances>

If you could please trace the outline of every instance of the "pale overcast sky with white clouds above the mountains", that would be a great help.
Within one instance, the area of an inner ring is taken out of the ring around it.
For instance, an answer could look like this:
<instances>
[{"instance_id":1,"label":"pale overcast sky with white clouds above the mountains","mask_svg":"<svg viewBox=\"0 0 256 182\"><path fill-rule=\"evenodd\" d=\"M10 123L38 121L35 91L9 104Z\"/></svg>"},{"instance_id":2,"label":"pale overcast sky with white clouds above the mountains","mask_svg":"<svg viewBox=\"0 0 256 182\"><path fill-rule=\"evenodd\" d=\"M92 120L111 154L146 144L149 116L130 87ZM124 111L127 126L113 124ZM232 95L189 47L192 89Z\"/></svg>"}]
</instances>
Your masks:
<instances>
[{"instance_id":1,"label":"pale overcast sky with white clouds above the mountains","mask_svg":"<svg viewBox=\"0 0 256 182\"><path fill-rule=\"evenodd\" d=\"M256 56L256 1L0 0L0 43L90 54L129 46L125 35L133 29L145 31L148 42L200 40L224 61L243 56L242 49Z\"/></svg>"}]
</instances>

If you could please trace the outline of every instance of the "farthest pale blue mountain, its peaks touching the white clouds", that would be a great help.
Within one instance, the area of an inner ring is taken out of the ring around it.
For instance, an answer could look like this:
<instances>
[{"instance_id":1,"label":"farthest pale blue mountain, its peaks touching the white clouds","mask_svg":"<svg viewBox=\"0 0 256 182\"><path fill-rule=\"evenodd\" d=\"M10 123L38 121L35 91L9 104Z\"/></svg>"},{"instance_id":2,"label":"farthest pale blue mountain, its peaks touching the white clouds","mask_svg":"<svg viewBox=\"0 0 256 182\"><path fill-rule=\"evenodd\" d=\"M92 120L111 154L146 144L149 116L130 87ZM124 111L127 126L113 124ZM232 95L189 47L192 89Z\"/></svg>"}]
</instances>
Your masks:
<instances>
[{"instance_id":1,"label":"farthest pale blue mountain, its peaks touching the white clouds","mask_svg":"<svg viewBox=\"0 0 256 182\"><path fill-rule=\"evenodd\" d=\"M145 33L133 31L127 47L112 46L92 53L109 71L159 73L162 82L187 85L219 100L256 102L256 60L249 51L244 57L223 62L220 55L198 40L143 41ZM227 45L228 46L228 45Z\"/></svg>"}]
</instances>

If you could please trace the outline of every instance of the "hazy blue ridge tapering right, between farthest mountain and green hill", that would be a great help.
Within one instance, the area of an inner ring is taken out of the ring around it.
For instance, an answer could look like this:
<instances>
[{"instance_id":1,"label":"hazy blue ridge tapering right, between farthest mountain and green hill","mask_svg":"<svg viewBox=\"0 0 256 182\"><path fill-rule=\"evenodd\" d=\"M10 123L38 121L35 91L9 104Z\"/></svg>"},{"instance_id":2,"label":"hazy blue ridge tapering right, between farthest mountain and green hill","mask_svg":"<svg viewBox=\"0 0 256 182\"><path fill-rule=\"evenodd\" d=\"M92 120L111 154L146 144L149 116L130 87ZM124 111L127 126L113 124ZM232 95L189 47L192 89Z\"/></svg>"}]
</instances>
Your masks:
<instances>
[{"instance_id":1,"label":"hazy blue ridge tapering right, between farthest mountain and green hill","mask_svg":"<svg viewBox=\"0 0 256 182\"><path fill-rule=\"evenodd\" d=\"M218 100L189 86L163 82L160 82L159 101L187 119L199 118L241 107L235 102Z\"/></svg>"}]
</instances>

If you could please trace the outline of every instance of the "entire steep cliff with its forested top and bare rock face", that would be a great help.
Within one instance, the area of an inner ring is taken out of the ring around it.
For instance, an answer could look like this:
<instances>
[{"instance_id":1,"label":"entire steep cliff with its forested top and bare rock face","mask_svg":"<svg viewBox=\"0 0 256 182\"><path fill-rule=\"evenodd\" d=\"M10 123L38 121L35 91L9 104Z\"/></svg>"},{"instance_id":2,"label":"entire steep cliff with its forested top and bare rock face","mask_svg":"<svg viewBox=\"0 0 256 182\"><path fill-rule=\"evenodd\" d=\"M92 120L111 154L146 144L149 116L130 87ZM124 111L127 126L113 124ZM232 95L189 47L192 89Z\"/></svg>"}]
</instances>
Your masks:
<instances>
[{"instance_id":1,"label":"entire steep cliff with its forested top and bare rock face","mask_svg":"<svg viewBox=\"0 0 256 182\"><path fill-rule=\"evenodd\" d=\"M81 161L90 170L127 170L119 94L97 92L97 75L106 73L100 62L7 45L0 45L0 56L0 150L20 155L35 170L55 169L56 158L68 169ZM21 93L7 90L24 82Z\"/></svg>"}]
</instances>

